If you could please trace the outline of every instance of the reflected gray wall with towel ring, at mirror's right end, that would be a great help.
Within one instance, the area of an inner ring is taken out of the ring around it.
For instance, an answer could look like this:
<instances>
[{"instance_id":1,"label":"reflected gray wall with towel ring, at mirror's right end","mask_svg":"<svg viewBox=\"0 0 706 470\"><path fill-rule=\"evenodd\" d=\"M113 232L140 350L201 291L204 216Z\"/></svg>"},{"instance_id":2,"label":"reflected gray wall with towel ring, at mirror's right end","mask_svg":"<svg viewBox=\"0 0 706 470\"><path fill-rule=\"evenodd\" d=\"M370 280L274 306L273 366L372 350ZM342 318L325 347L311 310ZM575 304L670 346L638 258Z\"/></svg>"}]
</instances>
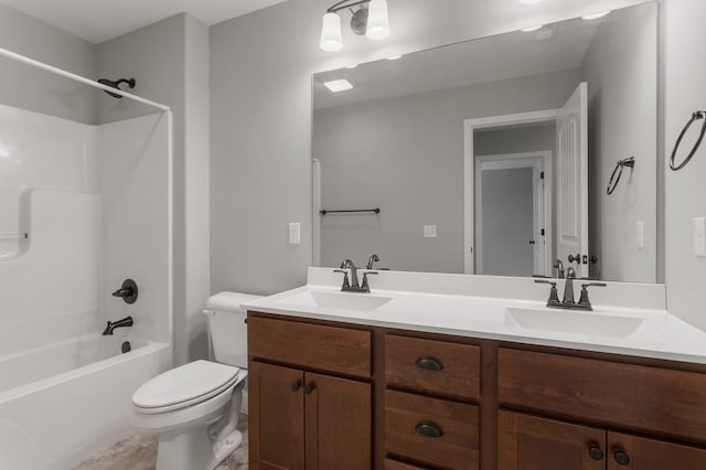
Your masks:
<instances>
[{"instance_id":1,"label":"reflected gray wall with towel ring, at mirror's right end","mask_svg":"<svg viewBox=\"0 0 706 470\"><path fill-rule=\"evenodd\" d=\"M656 6L616 11L596 34L582 67L589 89L589 245L607 280L656 281ZM613 44L620 43L620 47ZM612 195L618 160L635 158ZM637 223L644 223L638 248Z\"/></svg>"}]
</instances>

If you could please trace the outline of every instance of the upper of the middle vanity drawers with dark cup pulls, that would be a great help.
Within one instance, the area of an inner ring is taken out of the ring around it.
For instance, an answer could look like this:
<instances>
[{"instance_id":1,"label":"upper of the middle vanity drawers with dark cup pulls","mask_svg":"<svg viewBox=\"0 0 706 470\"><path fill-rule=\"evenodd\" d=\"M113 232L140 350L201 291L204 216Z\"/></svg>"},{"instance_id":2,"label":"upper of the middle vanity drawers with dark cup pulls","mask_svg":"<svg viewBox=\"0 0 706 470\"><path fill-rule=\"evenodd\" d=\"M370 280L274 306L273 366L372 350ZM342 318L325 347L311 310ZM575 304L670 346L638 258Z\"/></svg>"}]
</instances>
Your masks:
<instances>
[{"instance_id":1,"label":"upper of the middle vanity drawers with dark cup pulls","mask_svg":"<svg viewBox=\"0 0 706 470\"><path fill-rule=\"evenodd\" d=\"M479 346L394 334L385 337L388 385L478 399L480 363Z\"/></svg>"}]
</instances>

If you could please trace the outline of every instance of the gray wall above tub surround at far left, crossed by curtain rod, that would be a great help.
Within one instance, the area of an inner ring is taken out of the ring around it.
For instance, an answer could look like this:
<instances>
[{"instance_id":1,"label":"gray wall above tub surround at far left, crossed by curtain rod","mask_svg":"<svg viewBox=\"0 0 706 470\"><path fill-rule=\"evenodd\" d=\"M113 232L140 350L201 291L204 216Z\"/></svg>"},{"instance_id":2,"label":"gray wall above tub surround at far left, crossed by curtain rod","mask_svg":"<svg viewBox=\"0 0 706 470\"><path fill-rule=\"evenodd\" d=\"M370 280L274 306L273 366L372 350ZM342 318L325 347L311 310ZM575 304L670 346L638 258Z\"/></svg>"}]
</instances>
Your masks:
<instances>
[{"instance_id":1,"label":"gray wall above tub surround at far left, crossed by curtain rod","mask_svg":"<svg viewBox=\"0 0 706 470\"><path fill-rule=\"evenodd\" d=\"M2 4L0 47L78 75L96 75L93 44ZM9 58L0 58L0 103L83 124L95 122L95 89Z\"/></svg>"}]
</instances>

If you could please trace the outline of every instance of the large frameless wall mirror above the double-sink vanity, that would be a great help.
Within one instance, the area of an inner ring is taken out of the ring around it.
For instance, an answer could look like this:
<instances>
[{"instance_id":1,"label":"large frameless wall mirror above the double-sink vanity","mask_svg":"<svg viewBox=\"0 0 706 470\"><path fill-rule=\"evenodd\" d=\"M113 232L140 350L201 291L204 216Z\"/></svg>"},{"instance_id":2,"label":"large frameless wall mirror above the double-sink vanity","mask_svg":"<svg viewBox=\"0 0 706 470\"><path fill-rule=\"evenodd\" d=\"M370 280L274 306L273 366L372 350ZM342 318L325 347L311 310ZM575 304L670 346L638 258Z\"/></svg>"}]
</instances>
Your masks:
<instances>
[{"instance_id":1,"label":"large frameless wall mirror above the double-sink vanity","mask_svg":"<svg viewBox=\"0 0 706 470\"><path fill-rule=\"evenodd\" d=\"M320 73L313 96L315 264L656 281L654 2Z\"/></svg>"}]
</instances>

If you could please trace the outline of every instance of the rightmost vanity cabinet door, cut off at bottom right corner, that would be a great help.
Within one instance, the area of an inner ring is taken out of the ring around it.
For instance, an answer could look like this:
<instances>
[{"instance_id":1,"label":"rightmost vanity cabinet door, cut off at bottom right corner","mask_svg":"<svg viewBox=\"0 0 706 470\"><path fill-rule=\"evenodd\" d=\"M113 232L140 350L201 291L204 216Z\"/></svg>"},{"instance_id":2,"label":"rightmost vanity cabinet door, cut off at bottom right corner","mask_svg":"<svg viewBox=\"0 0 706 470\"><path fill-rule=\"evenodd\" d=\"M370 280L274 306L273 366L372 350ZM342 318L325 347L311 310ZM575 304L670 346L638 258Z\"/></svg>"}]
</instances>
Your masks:
<instances>
[{"instance_id":1,"label":"rightmost vanity cabinet door, cut off at bottom right corner","mask_svg":"<svg viewBox=\"0 0 706 470\"><path fill-rule=\"evenodd\" d=\"M704 470L706 450L608 432L608 470Z\"/></svg>"}]
</instances>

